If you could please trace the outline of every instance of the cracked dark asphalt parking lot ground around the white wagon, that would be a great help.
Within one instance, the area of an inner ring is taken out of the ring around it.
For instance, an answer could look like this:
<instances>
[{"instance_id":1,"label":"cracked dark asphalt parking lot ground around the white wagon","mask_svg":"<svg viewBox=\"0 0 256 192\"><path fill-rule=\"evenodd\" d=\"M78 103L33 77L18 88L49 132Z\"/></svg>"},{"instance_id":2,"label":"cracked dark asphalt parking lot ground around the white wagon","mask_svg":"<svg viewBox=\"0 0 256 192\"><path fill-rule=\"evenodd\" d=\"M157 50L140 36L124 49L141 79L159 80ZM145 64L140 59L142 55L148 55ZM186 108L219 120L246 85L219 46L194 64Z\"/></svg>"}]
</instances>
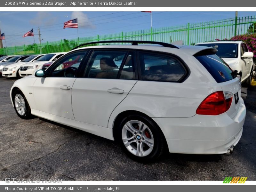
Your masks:
<instances>
[{"instance_id":1,"label":"cracked dark asphalt parking lot ground around the white wagon","mask_svg":"<svg viewBox=\"0 0 256 192\"><path fill-rule=\"evenodd\" d=\"M0 78L0 180L256 180L256 86L242 88L247 114L233 154L168 153L155 163L140 164L114 141L38 117L20 119L9 96L15 80Z\"/></svg>"}]
</instances>

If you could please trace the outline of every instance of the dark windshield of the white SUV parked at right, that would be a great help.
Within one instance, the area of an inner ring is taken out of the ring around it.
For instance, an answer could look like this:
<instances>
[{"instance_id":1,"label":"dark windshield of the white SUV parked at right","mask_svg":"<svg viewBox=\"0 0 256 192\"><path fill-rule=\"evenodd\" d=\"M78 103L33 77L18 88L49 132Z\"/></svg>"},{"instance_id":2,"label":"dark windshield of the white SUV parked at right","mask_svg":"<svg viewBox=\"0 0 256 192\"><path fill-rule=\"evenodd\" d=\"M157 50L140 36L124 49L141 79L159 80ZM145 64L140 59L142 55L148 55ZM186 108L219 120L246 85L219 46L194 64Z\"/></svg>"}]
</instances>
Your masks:
<instances>
[{"instance_id":1,"label":"dark windshield of the white SUV parked at right","mask_svg":"<svg viewBox=\"0 0 256 192\"><path fill-rule=\"evenodd\" d=\"M197 44L199 46L214 47L218 49L216 55L224 58L237 58L238 56L238 44L237 43L207 43Z\"/></svg>"}]
</instances>

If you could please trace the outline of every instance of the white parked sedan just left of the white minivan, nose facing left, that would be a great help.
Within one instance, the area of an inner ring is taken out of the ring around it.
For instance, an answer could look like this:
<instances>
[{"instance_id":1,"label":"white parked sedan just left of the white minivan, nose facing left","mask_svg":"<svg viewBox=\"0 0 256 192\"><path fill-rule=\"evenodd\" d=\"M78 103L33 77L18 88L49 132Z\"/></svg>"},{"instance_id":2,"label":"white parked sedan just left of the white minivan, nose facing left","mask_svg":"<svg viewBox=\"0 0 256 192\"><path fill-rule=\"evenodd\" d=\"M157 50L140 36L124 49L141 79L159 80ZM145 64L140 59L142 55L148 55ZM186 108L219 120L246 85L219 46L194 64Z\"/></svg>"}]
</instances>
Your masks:
<instances>
[{"instance_id":1,"label":"white parked sedan just left of the white minivan, nose facing left","mask_svg":"<svg viewBox=\"0 0 256 192\"><path fill-rule=\"evenodd\" d=\"M42 57L44 54L41 55L31 55L29 57L27 57L26 59L17 62L17 63L13 63L11 65L8 65L5 67L5 71L2 72L2 76L4 77L19 77L19 70L20 70L20 66L23 64L28 64L31 63L33 61L36 61L37 59L39 59L40 57Z\"/></svg>"}]
</instances>

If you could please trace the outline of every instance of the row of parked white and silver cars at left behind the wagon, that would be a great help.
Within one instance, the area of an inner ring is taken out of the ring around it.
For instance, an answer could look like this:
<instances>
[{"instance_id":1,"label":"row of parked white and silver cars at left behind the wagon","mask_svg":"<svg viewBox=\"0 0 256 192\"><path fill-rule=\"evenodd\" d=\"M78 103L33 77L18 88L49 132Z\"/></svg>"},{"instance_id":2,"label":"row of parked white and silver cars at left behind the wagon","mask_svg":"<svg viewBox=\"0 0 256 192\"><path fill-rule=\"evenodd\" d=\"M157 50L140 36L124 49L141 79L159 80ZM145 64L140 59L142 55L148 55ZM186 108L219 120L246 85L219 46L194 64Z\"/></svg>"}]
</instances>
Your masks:
<instances>
[{"instance_id":1,"label":"row of parked white and silver cars at left behind the wagon","mask_svg":"<svg viewBox=\"0 0 256 192\"><path fill-rule=\"evenodd\" d=\"M55 61L66 52L39 55L10 55L0 58L0 74L4 77L34 75L44 63Z\"/></svg>"}]
</instances>

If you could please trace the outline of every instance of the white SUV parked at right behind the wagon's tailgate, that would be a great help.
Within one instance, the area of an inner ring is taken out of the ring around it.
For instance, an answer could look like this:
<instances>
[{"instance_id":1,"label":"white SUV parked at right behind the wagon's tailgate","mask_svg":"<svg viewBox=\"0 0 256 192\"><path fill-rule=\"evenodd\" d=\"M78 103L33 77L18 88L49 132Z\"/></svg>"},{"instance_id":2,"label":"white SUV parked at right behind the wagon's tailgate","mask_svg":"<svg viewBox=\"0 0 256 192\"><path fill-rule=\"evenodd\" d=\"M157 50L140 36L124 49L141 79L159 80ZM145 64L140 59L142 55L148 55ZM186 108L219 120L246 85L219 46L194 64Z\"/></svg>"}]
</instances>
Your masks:
<instances>
[{"instance_id":1,"label":"white SUV parked at right behind the wagon's tailgate","mask_svg":"<svg viewBox=\"0 0 256 192\"><path fill-rule=\"evenodd\" d=\"M198 43L196 45L214 47L218 49L216 55L223 59L233 70L241 76L245 86L252 83L253 53L249 52L243 41L216 41Z\"/></svg>"}]
</instances>

